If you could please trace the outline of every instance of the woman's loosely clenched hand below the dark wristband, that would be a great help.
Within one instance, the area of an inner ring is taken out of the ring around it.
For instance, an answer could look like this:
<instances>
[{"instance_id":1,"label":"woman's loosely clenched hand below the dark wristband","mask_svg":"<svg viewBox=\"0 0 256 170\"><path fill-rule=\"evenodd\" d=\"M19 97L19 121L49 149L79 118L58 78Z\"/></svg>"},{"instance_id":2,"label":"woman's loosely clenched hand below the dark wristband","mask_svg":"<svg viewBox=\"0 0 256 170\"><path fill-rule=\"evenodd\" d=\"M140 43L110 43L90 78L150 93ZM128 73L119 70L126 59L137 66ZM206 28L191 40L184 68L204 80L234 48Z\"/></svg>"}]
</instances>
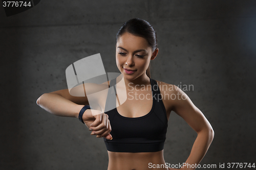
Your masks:
<instances>
[{"instance_id":1,"label":"woman's loosely clenched hand below the dark wristband","mask_svg":"<svg viewBox=\"0 0 256 170\"><path fill-rule=\"evenodd\" d=\"M111 140L111 125L108 114L101 113L99 110L93 110L93 113L95 115L90 109L87 109L82 116L84 124L92 131L91 135Z\"/></svg>"}]
</instances>

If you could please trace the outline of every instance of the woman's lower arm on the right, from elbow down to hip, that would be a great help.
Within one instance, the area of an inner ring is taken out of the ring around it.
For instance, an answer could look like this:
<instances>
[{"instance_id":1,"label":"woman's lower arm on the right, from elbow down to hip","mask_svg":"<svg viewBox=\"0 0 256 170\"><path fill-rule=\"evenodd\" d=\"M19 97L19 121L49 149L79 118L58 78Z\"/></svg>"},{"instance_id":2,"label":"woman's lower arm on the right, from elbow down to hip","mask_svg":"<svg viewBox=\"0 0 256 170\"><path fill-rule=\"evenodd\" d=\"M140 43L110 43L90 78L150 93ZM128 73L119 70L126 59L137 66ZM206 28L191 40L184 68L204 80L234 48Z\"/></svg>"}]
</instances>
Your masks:
<instances>
[{"instance_id":1,"label":"woman's lower arm on the right, from elbow down to hip","mask_svg":"<svg viewBox=\"0 0 256 170\"><path fill-rule=\"evenodd\" d=\"M212 129L200 131L193 144L190 155L185 162L186 165L183 166L181 169L194 170L195 165L198 165L206 154L213 138L214 131ZM188 164L190 164L191 166L187 166Z\"/></svg>"}]
</instances>

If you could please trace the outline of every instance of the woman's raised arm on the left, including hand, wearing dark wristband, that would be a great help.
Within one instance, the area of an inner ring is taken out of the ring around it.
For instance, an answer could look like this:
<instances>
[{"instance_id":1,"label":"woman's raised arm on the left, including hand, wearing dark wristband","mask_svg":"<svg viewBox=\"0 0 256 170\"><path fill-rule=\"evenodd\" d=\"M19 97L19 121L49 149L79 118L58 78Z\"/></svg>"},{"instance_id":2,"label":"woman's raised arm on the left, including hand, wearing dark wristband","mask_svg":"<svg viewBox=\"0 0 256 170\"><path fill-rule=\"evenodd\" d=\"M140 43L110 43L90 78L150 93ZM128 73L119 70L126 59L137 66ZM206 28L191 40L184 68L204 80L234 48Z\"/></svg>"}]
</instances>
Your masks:
<instances>
[{"instance_id":1,"label":"woman's raised arm on the left, including hand, wearing dark wristband","mask_svg":"<svg viewBox=\"0 0 256 170\"><path fill-rule=\"evenodd\" d=\"M82 88L83 89L83 88ZM82 91L84 93L84 91ZM68 89L58 90L42 94L36 101L37 105L49 113L57 116L76 117L84 105L89 105L87 96L72 96ZM83 116L83 122L92 131L92 135L112 139L110 134L111 125L109 117L105 113L95 110L98 114L93 115L90 109L87 109Z\"/></svg>"}]
</instances>

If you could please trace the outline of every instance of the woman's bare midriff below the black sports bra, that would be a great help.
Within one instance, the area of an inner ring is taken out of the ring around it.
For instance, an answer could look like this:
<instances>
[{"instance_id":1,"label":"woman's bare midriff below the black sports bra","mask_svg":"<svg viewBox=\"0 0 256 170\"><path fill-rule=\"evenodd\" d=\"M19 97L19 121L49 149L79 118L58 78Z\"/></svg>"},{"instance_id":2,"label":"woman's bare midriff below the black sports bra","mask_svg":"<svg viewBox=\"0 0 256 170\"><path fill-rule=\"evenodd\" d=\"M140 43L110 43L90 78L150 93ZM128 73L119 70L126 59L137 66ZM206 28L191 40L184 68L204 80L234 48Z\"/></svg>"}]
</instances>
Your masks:
<instances>
[{"instance_id":1,"label":"woman's bare midriff below the black sports bra","mask_svg":"<svg viewBox=\"0 0 256 170\"><path fill-rule=\"evenodd\" d=\"M159 152L123 153L110 152L108 170L146 170L158 169L167 170L164 167L163 150ZM162 165L162 168L153 168L153 165Z\"/></svg>"}]
</instances>

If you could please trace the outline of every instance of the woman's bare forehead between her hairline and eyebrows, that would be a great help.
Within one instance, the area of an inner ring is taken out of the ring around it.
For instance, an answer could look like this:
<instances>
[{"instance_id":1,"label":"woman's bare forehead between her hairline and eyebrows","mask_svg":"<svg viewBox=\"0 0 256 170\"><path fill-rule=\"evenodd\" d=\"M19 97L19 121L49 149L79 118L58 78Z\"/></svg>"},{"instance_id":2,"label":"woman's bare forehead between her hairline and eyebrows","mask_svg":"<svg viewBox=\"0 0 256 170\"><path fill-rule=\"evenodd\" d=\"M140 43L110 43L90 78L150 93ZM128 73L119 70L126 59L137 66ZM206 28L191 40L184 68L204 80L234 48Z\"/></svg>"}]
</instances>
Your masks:
<instances>
[{"instance_id":1,"label":"woman's bare forehead between her hairline and eyebrows","mask_svg":"<svg viewBox=\"0 0 256 170\"><path fill-rule=\"evenodd\" d=\"M121 46L126 50L137 50L137 49L147 49L150 48L148 42L145 38L140 36L135 36L130 33L124 33L119 37L117 41L117 47Z\"/></svg>"}]
</instances>

